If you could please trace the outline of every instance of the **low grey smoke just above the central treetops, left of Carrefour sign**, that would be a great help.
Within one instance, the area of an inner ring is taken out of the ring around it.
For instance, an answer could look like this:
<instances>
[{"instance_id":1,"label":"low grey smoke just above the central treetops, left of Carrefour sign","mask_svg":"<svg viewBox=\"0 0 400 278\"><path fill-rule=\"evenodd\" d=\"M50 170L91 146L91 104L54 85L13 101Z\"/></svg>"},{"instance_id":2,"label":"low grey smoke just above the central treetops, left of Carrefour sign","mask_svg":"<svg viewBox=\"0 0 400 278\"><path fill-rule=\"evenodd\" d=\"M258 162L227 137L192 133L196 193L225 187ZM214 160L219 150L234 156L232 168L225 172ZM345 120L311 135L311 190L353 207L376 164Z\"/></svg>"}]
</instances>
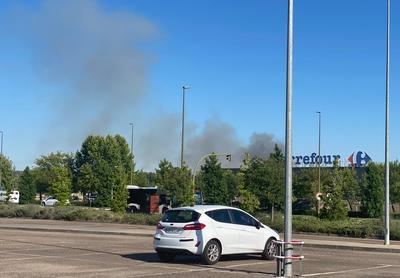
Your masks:
<instances>
[{"instance_id":1,"label":"low grey smoke just above the central treetops, left of Carrefour sign","mask_svg":"<svg viewBox=\"0 0 400 278\"><path fill-rule=\"evenodd\" d=\"M135 157L139 169L154 171L161 159L180 165L181 151L181 117L177 114L163 114L149 121L148 128L138 135L135 142ZM196 164L206 154L231 154L232 161L227 161L224 155L218 156L223 168L239 168L246 155L250 157L267 158L274 145L282 144L271 134L253 133L249 143L240 140L236 129L219 119L212 118L199 128L186 123L185 156L189 168ZM204 162L204 161L202 161ZM201 165L202 163L200 163Z\"/></svg>"}]
</instances>

